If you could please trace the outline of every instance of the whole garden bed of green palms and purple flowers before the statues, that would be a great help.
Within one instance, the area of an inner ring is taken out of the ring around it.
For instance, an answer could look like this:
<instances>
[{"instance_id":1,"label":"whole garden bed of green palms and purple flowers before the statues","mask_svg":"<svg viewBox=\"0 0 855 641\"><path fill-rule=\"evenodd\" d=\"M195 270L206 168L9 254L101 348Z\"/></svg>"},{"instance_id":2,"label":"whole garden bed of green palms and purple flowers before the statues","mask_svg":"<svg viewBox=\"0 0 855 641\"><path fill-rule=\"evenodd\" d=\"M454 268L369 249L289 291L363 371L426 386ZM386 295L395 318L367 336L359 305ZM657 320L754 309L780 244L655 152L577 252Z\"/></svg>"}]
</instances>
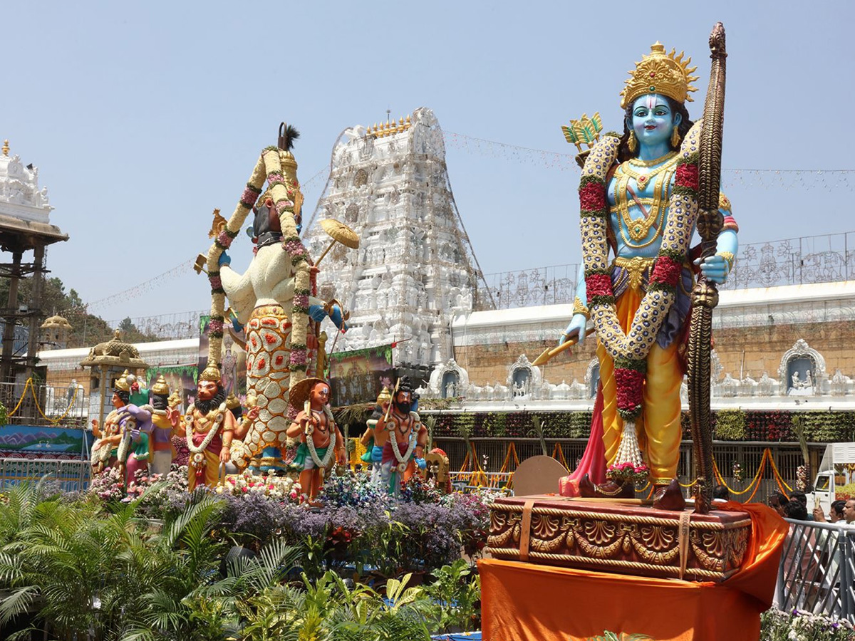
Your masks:
<instances>
[{"instance_id":1,"label":"whole garden bed of green palms and purple flowers before the statues","mask_svg":"<svg viewBox=\"0 0 855 641\"><path fill-rule=\"evenodd\" d=\"M462 555L483 546L492 496L417 479L392 498L346 474L315 508L292 500L290 479L192 493L186 468L127 492L119 481L108 471L85 494L42 483L0 497L10 616L50 638L156 641L428 641L479 627L480 582Z\"/></svg>"}]
</instances>

